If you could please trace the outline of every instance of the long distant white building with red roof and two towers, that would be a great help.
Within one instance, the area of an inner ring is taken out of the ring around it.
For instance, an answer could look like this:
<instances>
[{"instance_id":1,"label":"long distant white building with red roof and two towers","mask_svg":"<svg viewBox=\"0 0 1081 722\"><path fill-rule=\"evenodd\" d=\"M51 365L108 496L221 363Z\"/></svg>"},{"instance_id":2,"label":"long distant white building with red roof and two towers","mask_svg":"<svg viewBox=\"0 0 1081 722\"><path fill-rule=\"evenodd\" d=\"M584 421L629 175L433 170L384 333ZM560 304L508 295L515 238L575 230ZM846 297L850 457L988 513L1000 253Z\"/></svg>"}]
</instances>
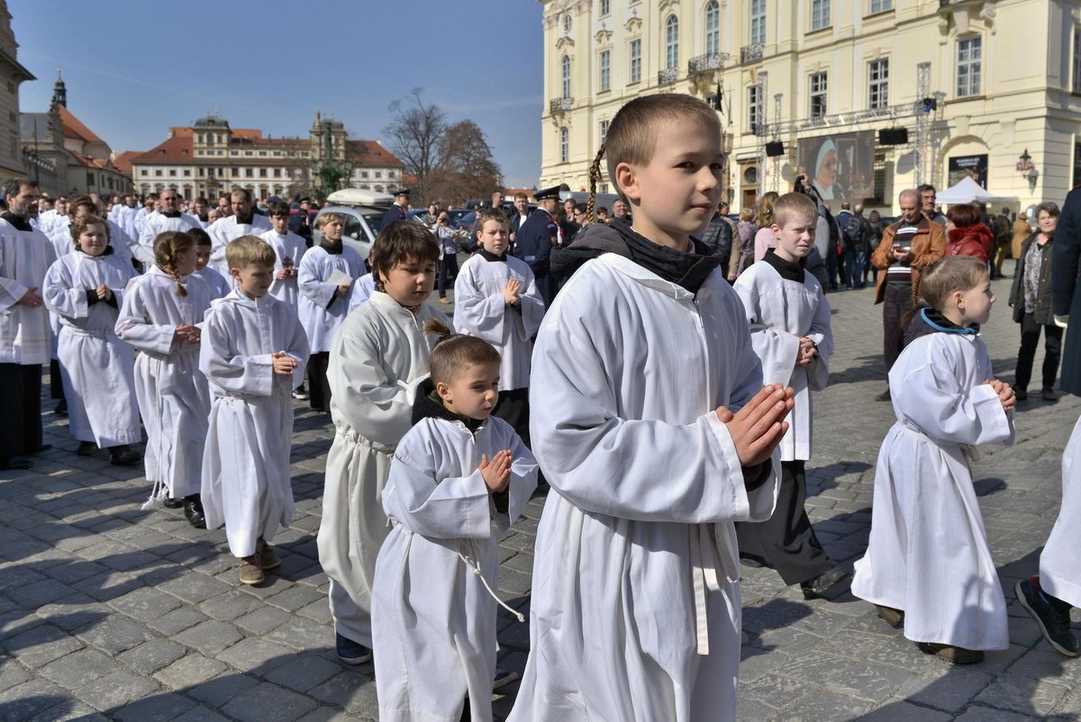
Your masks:
<instances>
[{"instance_id":1,"label":"long distant white building with red roof and two towers","mask_svg":"<svg viewBox=\"0 0 1081 722\"><path fill-rule=\"evenodd\" d=\"M169 129L150 150L125 157L138 193L174 188L184 198L215 198L246 188L258 200L320 189L324 169L338 187L385 192L401 183L402 162L376 141L351 141L342 121L316 113L308 137L269 137L231 128L217 115Z\"/></svg>"}]
</instances>

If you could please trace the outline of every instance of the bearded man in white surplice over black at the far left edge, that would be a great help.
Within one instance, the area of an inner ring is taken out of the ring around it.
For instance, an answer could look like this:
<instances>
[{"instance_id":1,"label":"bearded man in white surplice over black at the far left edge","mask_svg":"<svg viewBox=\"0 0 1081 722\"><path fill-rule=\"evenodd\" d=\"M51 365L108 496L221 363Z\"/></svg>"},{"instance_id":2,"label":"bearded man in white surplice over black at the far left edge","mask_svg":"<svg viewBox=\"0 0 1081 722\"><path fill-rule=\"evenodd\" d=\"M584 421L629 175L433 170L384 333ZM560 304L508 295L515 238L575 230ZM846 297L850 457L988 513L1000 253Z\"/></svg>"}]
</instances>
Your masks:
<instances>
[{"instance_id":1,"label":"bearded man in white surplice over black at the far left edge","mask_svg":"<svg viewBox=\"0 0 1081 722\"><path fill-rule=\"evenodd\" d=\"M12 178L3 186L0 216L0 470L28 469L41 443L41 364L49 362L52 332L42 297L53 244L30 227L38 184Z\"/></svg>"}]
</instances>

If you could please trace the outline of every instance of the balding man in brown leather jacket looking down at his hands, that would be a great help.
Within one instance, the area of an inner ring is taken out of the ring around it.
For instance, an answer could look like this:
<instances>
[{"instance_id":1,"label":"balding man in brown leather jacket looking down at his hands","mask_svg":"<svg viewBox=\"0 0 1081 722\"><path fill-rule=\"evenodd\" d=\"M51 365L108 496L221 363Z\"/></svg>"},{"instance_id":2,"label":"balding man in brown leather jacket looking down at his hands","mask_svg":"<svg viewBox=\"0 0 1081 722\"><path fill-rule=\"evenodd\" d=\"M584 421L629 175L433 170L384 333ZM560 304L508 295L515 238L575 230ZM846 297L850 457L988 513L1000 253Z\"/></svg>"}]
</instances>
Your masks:
<instances>
[{"instance_id":1,"label":"balding man in brown leather jacket looking down at his hands","mask_svg":"<svg viewBox=\"0 0 1081 722\"><path fill-rule=\"evenodd\" d=\"M916 306L916 286L920 272L927 264L943 257L946 252L946 229L930 222L920 211L920 195L913 189L903 190L897 198L900 219L882 232L882 242L871 255L879 273L875 303L881 304L885 372L905 347L905 316ZM890 389L876 397L890 400Z\"/></svg>"}]
</instances>

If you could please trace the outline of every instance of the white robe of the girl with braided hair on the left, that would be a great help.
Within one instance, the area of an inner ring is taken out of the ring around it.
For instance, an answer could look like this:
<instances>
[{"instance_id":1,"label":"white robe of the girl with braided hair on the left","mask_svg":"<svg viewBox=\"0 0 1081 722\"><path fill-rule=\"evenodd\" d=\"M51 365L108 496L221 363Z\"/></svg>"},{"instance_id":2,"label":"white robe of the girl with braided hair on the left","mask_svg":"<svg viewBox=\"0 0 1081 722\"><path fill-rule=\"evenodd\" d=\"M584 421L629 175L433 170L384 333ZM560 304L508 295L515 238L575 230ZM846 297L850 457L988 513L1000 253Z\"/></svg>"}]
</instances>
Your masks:
<instances>
[{"instance_id":1,"label":"white robe of the girl with braided hair on the left","mask_svg":"<svg viewBox=\"0 0 1081 722\"><path fill-rule=\"evenodd\" d=\"M170 496L198 494L202 474L210 387L199 371L199 344L173 342L181 323L201 325L210 289L198 278L182 279L187 297L170 273L157 266L132 279L117 320L117 335L138 349L135 395L146 429L144 462L148 481Z\"/></svg>"}]
</instances>

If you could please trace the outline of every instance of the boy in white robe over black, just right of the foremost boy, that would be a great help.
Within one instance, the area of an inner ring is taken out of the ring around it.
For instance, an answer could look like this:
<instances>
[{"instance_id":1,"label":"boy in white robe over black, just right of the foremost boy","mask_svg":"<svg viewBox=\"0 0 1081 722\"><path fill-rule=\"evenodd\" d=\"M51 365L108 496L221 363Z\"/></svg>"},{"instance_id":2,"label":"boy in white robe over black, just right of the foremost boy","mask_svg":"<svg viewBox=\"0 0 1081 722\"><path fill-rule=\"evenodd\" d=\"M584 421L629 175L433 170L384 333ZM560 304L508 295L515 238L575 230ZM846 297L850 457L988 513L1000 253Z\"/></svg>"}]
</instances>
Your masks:
<instances>
[{"instance_id":1,"label":"boy in white robe over black, just right of the foremost boy","mask_svg":"<svg viewBox=\"0 0 1081 722\"><path fill-rule=\"evenodd\" d=\"M848 573L835 566L808 519L806 473L811 458L811 391L826 388L833 334L829 304L815 277L804 269L814 248L818 210L803 193L786 193L773 204L776 245L735 282L744 305L762 380L796 391L788 433L780 441L777 508L762 522L739 522L739 557L769 566L785 584L799 584L814 599Z\"/></svg>"}]
</instances>

